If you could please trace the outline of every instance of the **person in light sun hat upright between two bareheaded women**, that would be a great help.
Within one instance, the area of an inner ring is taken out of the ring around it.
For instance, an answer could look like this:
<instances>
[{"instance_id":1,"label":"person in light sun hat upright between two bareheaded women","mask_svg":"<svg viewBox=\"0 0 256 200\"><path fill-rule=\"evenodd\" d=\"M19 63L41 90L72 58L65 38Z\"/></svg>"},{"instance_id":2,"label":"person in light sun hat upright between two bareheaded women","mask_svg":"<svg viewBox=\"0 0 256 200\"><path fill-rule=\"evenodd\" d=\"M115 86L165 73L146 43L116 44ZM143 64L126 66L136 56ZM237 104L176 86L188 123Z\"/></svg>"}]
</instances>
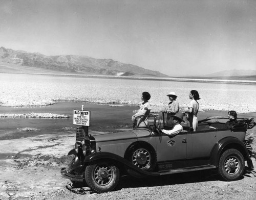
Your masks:
<instances>
[{"instance_id":1,"label":"person in light sun hat upright between two bareheaded women","mask_svg":"<svg viewBox=\"0 0 256 200\"><path fill-rule=\"evenodd\" d=\"M170 101L165 110L165 113L167 113L166 120L168 121L170 119L170 116L175 115L176 113L179 112L180 105L176 101L177 95L175 92L170 92L166 96L168 96L169 101ZM173 125L172 120L169 120L169 123L170 123L169 125Z\"/></svg>"}]
</instances>

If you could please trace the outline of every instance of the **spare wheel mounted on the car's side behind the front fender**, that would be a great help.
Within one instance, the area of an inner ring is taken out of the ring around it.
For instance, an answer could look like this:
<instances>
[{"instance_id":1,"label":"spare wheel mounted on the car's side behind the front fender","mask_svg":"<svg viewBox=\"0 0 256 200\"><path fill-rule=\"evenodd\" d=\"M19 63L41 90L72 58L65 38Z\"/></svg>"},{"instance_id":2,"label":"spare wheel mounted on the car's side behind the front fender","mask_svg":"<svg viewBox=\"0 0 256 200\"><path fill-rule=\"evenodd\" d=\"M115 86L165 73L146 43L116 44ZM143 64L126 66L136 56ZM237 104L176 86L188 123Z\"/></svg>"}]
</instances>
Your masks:
<instances>
[{"instance_id":1,"label":"spare wheel mounted on the car's side behind the front fender","mask_svg":"<svg viewBox=\"0 0 256 200\"><path fill-rule=\"evenodd\" d=\"M145 144L135 144L127 154L127 159L145 171L153 171L156 167L156 153Z\"/></svg>"}]
</instances>

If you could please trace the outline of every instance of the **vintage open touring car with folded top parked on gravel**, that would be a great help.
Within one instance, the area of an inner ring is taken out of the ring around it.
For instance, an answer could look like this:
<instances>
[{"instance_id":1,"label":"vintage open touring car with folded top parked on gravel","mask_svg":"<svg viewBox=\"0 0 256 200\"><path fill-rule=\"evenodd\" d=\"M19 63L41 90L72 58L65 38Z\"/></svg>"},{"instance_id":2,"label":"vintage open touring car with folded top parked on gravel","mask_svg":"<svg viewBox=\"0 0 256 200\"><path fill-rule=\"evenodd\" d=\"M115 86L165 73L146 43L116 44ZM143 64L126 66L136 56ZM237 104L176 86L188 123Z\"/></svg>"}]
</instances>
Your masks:
<instances>
[{"instance_id":1,"label":"vintage open touring car with folded top parked on gravel","mask_svg":"<svg viewBox=\"0 0 256 200\"><path fill-rule=\"evenodd\" d=\"M112 191L124 174L139 178L217 168L223 180L233 181L243 175L245 161L253 169L253 137L245 140L248 119L238 120L227 129L223 126L227 119L210 117L199 121L196 132L182 123L184 132L170 137L160 131L172 128L167 126L165 114L150 117L148 127L84 134L68 153L74 159L69 167L61 169L62 176L72 183L86 182L102 193Z\"/></svg>"}]
</instances>

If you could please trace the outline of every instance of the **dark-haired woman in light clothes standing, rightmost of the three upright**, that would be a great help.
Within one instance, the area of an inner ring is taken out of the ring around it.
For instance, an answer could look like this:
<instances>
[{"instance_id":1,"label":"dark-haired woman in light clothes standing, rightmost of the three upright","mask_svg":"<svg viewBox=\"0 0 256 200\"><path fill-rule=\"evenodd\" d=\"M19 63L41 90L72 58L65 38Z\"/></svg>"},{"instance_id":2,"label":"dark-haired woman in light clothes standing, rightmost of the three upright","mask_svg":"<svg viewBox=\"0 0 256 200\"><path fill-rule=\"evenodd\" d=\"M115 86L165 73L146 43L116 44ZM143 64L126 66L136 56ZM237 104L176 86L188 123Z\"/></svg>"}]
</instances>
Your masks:
<instances>
[{"instance_id":1,"label":"dark-haired woman in light clothes standing, rightmost of the three upright","mask_svg":"<svg viewBox=\"0 0 256 200\"><path fill-rule=\"evenodd\" d=\"M194 131L197 131L197 128L198 128L197 114L199 110L199 103L197 102L197 100L200 99L198 91L191 90L189 93L189 98L192 100L189 104L188 111L186 111L185 113L188 113L190 128L193 128Z\"/></svg>"}]
</instances>

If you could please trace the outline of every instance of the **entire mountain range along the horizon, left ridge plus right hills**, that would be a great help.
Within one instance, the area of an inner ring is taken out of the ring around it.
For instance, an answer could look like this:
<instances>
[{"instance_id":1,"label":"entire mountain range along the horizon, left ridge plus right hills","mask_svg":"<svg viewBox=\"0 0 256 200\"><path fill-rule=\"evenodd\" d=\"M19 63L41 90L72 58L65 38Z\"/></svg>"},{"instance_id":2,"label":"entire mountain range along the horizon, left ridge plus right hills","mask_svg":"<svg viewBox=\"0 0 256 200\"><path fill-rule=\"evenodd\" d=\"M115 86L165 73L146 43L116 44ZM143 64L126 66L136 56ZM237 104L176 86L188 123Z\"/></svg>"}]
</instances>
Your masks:
<instances>
[{"instance_id":1,"label":"entire mountain range along the horizon, left ridge plus right hills","mask_svg":"<svg viewBox=\"0 0 256 200\"><path fill-rule=\"evenodd\" d=\"M46 56L40 53L14 51L0 47L0 72L87 74L120 77L169 78L159 71L125 64L112 59L95 59L88 56ZM204 76L178 77L190 79L256 80L256 70L224 70Z\"/></svg>"}]
</instances>

